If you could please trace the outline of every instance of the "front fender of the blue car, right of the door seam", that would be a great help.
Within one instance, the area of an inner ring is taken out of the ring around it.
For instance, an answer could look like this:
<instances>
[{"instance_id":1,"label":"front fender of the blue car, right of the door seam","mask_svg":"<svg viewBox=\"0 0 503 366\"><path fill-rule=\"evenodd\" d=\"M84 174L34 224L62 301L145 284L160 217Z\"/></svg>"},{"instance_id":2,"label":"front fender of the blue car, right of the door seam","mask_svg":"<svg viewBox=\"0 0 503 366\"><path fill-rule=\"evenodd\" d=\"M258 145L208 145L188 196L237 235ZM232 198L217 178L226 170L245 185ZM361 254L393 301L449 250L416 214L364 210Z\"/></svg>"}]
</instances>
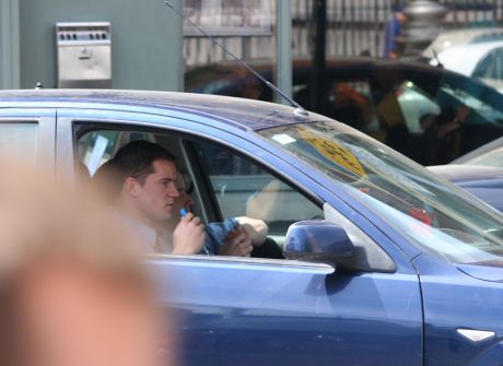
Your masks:
<instances>
[{"instance_id":1,"label":"front fender of the blue car, right of the door seam","mask_svg":"<svg viewBox=\"0 0 503 366\"><path fill-rule=\"evenodd\" d=\"M488 281L487 272L486 279L476 279L465 273L463 265L459 269L446 265L424 255L413 262L420 272L423 296L425 364L464 365L470 361L470 365L484 365L482 359L494 362L494 353L499 353L496 364L501 365L503 282ZM491 278L495 272L503 278L503 268L491 268L489 272ZM488 330L495 334L473 342L459 334L458 329Z\"/></svg>"}]
</instances>

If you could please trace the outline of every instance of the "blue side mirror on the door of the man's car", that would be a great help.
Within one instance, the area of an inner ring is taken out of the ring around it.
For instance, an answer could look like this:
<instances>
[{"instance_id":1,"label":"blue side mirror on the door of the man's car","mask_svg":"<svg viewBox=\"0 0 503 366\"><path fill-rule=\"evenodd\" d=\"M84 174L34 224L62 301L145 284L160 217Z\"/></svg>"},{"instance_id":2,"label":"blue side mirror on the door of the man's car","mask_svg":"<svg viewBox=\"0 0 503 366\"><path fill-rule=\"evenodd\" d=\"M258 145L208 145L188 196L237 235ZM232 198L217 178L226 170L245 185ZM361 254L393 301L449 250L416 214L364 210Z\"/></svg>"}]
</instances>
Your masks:
<instances>
[{"instance_id":1,"label":"blue side mirror on the door of the man's car","mask_svg":"<svg viewBox=\"0 0 503 366\"><path fill-rule=\"evenodd\" d=\"M353 244L339 225L325 220L300 221L289 227L283 255L286 259L338 263L353 257Z\"/></svg>"}]
</instances>

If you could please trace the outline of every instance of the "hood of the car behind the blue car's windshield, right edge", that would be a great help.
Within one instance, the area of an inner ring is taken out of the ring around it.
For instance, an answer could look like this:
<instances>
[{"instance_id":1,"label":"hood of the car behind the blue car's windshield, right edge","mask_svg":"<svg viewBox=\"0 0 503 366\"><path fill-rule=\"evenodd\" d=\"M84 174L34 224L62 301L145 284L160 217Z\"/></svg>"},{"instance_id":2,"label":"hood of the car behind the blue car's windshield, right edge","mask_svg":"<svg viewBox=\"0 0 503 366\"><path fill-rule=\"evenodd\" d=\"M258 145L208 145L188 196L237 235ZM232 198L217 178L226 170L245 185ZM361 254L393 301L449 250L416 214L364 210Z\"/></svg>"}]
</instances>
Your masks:
<instances>
[{"instance_id":1,"label":"hood of the car behind the blue car's windshield, right edge","mask_svg":"<svg viewBox=\"0 0 503 366\"><path fill-rule=\"evenodd\" d=\"M428 166L428 168L436 175L456 184L503 178L503 169L491 166L448 164Z\"/></svg>"}]
</instances>

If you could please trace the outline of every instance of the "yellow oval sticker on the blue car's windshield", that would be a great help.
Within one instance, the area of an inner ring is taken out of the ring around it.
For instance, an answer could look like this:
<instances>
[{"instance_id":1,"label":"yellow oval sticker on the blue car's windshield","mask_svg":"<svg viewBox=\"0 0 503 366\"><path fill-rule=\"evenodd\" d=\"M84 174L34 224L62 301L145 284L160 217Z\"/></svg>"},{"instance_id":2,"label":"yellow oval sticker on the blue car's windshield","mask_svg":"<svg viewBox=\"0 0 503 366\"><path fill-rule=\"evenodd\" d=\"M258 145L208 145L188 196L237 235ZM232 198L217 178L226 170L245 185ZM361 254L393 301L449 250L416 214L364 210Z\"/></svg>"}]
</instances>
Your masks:
<instances>
[{"instance_id":1,"label":"yellow oval sticker on the blue car's windshield","mask_svg":"<svg viewBox=\"0 0 503 366\"><path fill-rule=\"evenodd\" d=\"M303 129L299 129L297 131L302 139L315 146L315 149L325 157L339 165L342 165L344 168L358 174L361 177L366 175L358 157L354 156L344 146L339 145L335 141L320 138Z\"/></svg>"}]
</instances>

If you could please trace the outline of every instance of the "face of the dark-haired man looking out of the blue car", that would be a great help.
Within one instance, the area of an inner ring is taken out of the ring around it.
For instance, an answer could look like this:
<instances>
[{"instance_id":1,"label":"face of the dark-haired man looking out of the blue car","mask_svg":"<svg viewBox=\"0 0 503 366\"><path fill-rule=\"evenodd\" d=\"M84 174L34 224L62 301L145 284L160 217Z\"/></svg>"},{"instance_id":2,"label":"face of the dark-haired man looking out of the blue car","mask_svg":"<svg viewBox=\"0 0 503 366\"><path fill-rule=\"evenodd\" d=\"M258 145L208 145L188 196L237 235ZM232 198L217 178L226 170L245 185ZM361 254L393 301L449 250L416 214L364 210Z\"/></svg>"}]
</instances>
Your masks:
<instances>
[{"instance_id":1,"label":"face of the dark-haired man looking out of the blue car","mask_svg":"<svg viewBox=\"0 0 503 366\"><path fill-rule=\"evenodd\" d=\"M136 206L151 224L163 224L176 212L179 197L176 188L176 168L169 161L159 160L152 164L154 172L147 176L143 185L134 185Z\"/></svg>"}]
</instances>

